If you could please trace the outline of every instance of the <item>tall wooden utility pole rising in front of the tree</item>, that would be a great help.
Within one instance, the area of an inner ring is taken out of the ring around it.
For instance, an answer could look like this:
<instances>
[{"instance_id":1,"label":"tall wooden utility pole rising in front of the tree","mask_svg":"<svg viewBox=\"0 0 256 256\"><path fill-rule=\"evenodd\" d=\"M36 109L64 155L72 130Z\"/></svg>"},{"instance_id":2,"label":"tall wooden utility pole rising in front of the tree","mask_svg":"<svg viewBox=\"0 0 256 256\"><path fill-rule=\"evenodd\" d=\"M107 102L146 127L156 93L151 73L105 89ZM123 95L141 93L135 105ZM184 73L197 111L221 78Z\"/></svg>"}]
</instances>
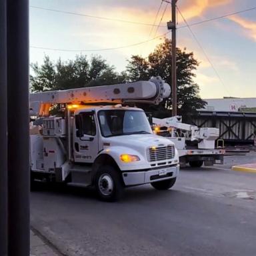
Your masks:
<instances>
[{"instance_id":1,"label":"tall wooden utility pole rising in front of the tree","mask_svg":"<svg viewBox=\"0 0 256 256\"><path fill-rule=\"evenodd\" d=\"M167 23L167 28L171 29L171 101L172 115L177 115L177 78L176 78L176 3L171 0L171 21Z\"/></svg>"}]
</instances>

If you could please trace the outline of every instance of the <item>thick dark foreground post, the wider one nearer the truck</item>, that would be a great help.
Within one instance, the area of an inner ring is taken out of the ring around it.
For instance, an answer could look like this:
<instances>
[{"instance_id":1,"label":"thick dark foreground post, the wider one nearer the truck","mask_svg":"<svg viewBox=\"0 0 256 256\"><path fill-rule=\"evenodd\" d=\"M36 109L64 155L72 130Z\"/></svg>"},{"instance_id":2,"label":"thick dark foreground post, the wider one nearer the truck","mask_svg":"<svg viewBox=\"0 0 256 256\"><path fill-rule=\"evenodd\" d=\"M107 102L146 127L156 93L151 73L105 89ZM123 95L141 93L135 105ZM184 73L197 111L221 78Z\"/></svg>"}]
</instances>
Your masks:
<instances>
[{"instance_id":1,"label":"thick dark foreground post, the wider one nearer the truck","mask_svg":"<svg viewBox=\"0 0 256 256\"><path fill-rule=\"evenodd\" d=\"M29 1L7 1L8 256L29 256Z\"/></svg>"}]
</instances>

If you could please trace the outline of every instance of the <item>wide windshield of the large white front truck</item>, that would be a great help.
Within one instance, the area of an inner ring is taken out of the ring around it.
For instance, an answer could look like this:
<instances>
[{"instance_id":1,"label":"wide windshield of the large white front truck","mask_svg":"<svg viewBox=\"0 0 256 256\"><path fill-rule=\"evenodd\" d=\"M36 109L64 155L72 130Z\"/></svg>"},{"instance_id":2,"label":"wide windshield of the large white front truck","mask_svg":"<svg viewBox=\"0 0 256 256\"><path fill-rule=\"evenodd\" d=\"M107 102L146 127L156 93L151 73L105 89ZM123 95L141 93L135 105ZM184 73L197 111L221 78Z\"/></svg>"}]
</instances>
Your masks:
<instances>
[{"instance_id":1,"label":"wide windshield of the large white front truck","mask_svg":"<svg viewBox=\"0 0 256 256\"><path fill-rule=\"evenodd\" d=\"M143 111L101 110L98 117L104 137L152 133L147 116Z\"/></svg>"}]
</instances>

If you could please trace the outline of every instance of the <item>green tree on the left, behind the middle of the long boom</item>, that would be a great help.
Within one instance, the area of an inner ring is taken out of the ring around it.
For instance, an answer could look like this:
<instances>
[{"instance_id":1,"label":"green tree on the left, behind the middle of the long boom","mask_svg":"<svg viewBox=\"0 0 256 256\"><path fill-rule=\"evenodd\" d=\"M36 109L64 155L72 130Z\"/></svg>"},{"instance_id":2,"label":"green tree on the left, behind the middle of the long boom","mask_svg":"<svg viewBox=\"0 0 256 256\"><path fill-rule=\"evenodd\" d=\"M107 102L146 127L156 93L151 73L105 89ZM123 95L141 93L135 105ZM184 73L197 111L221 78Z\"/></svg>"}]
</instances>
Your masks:
<instances>
[{"instance_id":1,"label":"green tree on the left, behind the middle of the long boom","mask_svg":"<svg viewBox=\"0 0 256 256\"><path fill-rule=\"evenodd\" d=\"M45 56L43 65L32 63L33 75L30 76L31 91L72 89L85 86L119 83L125 75L119 75L115 68L100 56L89 61L85 55L77 55L75 60L53 63Z\"/></svg>"}]
</instances>

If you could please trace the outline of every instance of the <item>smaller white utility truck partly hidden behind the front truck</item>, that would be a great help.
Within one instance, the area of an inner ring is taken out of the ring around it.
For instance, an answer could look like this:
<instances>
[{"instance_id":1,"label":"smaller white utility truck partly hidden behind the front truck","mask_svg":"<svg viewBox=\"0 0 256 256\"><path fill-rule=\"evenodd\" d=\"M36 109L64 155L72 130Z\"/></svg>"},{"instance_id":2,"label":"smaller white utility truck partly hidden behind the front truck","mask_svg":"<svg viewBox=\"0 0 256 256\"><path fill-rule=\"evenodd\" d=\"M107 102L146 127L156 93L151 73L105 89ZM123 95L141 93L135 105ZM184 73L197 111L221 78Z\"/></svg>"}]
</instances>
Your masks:
<instances>
[{"instance_id":1,"label":"smaller white utility truck partly hidden behind the front truck","mask_svg":"<svg viewBox=\"0 0 256 256\"><path fill-rule=\"evenodd\" d=\"M215 140L219 137L219 129L212 127L199 128L182 123L181 116L165 119L153 118L155 133L167 137L179 151L181 166L187 163L191 167L223 164L225 150L215 149Z\"/></svg>"}]
</instances>

